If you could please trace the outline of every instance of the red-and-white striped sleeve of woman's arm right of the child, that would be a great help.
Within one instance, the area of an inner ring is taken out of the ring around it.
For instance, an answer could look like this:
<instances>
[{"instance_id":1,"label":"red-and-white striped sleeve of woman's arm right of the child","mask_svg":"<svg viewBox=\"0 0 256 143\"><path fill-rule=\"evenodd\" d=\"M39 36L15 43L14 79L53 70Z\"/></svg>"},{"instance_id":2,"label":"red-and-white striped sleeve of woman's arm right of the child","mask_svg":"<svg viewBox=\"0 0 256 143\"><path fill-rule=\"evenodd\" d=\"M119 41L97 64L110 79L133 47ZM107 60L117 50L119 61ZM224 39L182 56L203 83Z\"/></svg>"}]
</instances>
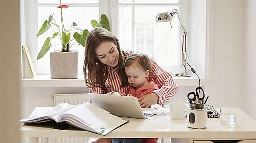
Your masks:
<instances>
[{"instance_id":1,"label":"red-and-white striped sleeve of woman's arm right of the child","mask_svg":"<svg viewBox=\"0 0 256 143\"><path fill-rule=\"evenodd\" d=\"M152 62L151 79L161 86L160 89L154 91L158 95L158 104L168 102L171 97L178 93L178 86L173 82L170 73L159 67L153 58L150 60Z\"/></svg>"}]
</instances>

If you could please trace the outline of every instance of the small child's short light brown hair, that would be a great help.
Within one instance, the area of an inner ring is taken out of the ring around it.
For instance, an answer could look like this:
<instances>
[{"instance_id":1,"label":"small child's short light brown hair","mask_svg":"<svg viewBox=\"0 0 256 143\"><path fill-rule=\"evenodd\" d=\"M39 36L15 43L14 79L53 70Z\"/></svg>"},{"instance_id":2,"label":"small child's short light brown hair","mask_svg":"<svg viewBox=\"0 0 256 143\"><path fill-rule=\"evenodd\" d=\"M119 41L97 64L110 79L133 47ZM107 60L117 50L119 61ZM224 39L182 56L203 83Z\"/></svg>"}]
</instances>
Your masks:
<instances>
[{"instance_id":1,"label":"small child's short light brown hair","mask_svg":"<svg viewBox=\"0 0 256 143\"><path fill-rule=\"evenodd\" d=\"M125 60L124 67L131 66L134 63L137 63L138 67L141 66L145 71L149 70L149 75L150 75L152 63L146 54L142 54L142 53L130 54ZM149 76L147 78L149 78Z\"/></svg>"}]
</instances>

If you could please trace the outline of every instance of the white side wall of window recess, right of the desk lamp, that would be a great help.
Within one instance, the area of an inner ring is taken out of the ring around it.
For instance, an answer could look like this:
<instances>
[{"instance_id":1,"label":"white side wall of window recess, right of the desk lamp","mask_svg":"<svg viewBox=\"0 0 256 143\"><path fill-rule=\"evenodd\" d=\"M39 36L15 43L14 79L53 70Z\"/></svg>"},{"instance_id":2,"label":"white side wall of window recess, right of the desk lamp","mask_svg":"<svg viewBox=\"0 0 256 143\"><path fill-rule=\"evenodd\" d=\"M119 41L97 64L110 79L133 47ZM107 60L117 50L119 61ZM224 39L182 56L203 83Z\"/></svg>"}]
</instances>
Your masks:
<instances>
[{"instance_id":1,"label":"white side wall of window recess, right of the desk lamp","mask_svg":"<svg viewBox=\"0 0 256 143\"><path fill-rule=\"evenodd\" d=\"M195 69L200 78L205 77L206 1L207 0L189 1L189 11L187 13L189 21L187 62ZM188 69L190 70L189 66Z\"/></svg>"}]
</instances>

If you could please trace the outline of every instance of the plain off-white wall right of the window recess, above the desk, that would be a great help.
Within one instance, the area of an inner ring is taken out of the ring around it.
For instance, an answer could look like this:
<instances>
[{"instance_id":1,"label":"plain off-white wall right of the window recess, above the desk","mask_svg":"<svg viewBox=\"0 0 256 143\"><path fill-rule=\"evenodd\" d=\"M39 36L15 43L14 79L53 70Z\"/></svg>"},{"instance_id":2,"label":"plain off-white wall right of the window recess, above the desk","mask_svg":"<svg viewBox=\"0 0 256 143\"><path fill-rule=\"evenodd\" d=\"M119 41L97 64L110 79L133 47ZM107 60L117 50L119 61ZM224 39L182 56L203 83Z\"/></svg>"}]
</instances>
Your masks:
<instances>
[{"instance_id":1,"label":"plain off-white wall right of the window recess, above the desk","mask_svg":"<svg viewBox=\"0 0 256 143\"><path fill-rule=\"evenodd\" d=\"M245 4L245 0L215 0L214 3L214 44L210 47L214 75L213 81L206 82L205 90L208 104L215 107L243 108Z\"/></svg>"}]
</instances>

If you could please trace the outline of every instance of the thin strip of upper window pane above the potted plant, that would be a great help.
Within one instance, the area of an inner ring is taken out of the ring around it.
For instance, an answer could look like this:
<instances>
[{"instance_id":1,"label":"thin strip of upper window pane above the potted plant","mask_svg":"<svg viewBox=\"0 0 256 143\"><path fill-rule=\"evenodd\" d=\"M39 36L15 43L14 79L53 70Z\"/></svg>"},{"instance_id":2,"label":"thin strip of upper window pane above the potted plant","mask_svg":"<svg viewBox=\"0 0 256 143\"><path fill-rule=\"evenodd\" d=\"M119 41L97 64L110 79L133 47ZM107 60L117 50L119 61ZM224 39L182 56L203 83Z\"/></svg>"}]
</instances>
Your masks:
<instances>
[{"instance_id":1,"label":"thin strip of upper window pane above the potted plant","mask_svg":"<svg viewBox=\"0 0 256 143\"><path fill-rule=\"evenodd\" d=\"M60 0L37 0L37 3L60 4ZM99 0L61 0L61 4L98 4Z\"/></svg>"}]
</instances>

